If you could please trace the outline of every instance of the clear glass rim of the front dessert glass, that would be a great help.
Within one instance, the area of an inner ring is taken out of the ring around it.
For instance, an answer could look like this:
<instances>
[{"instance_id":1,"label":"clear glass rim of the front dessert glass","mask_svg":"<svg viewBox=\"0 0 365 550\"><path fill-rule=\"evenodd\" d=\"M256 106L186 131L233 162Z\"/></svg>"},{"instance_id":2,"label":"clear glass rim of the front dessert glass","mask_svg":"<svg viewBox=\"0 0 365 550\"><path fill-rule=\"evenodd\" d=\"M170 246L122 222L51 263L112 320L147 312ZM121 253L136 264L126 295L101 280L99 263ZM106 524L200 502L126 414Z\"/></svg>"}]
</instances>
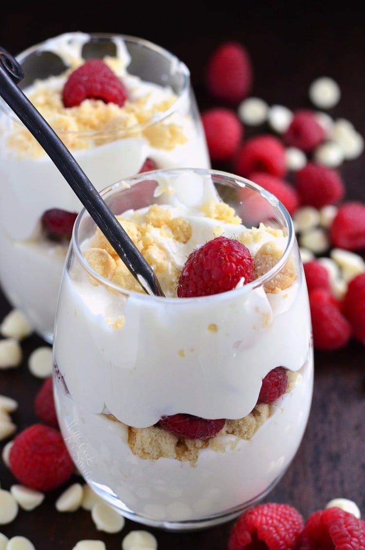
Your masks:
<instances>
[{"instance_id":1,"label":"clear glass rim of the front dessert glass","mask_svg":"<svg viewBox=\"0 0 365 550\"><path fill-rule=\"evenodd\" d=\"M295 237L295 230L294 230L294 226L293 226L293 221L292 221L292 218L291 218L289 212L287 211L286 207L282 204L282 202L279 199L277 199L277 197L275 195L273 195L272 193L270 193L269 191L267 191L266 189L264 189L260 185L252 182L251 180L249 180L247 178L243 178L241 176L238 176L236 174L231 174L229 172L224 172L224 171L215 170L215 169L208 169L208 168L165 168L165 169L162 168L161 169L160 168L160 169L157 169L157 170L152 170L152 171L149 171L149 172L143 172L143 173L140 173L140 174L135 174L134 176L118 180L118 182L115 182L111 185L108 185L106 188L104 188L100 192L100 195L102 197L104 197L105 195L111 193L113 190L123 189L122 185L125 186L126 184L129 184L129 182L135 182L136 180L139 180L139 181L152 180L152 179L154 179L154 175L156 175L156 174L161 174L162 173L163 175L166 175L167 173L170 173L170 174L178 175L178 174L187 173L187 172L194 172L194 173L197 173L197 174L200 174L200 175L210 175L210 177L213 179L213 182L215 181L215 178L216 178L216 180L220 180L220 181L217 181L216 183L225 183L225 182L229 181L231 184L233 184L233 186L238 185L238 187L240 187L240 188L246 188L247 187L247 188L252 189L252 190L256 191L257 193L259 193L259 195L262 196L266 201L268 201L274 209L276 209L277 211L280 212L282 218L284 219L284 222L286 223L287 242L286 242L285 250L283 251L280 259L275 263L275 265L273 267L271 267L268 271L266 271L266 273L264 273L263 275L261 275L257 279L254 279L254 281L252 281L250 283L247 283L247 284L244 284L244 285L242 285L242 287L227 290L226 292L222 292L222 293L219 293L219 294L210 294L208 296L193 296L193 297L189 297L189 298L184 298L183 300L184 301L189 300L190 302L193 301L193 300L208 300L208 299L211 299L211 300L216 299L217 300L217 299L219 299L219 298L217 298L217 296L222 297L222 296L226 295L227 292L230 292L230 293L232 293L232 292L236 292L236 293L245 292L245 293L248 293L249 290L254 290L255 288L258 288L258 287L263 287L265 283L268 283L271 279L273 279L281 271L281 269L285 266L285 264L288 260L288 257L290 256L290 254L293 250L293 247L295 245L296 237ZM126 187L124 187L124 189L126 189ZM72 231L72 238L71 238L71 241L70 241L70 248L73 250L73 252L75 254L75 257L77 257L81 267L83 267L84 270L92 278L96 279L96 281L98 281L104 287L107 287L107 288L113 290L114 292L117 292L119 295L123 295L123 296L126 296L126 297L128 297L130 295L134 295L134 296L138 295L138 296L141 297L141 299L161 300L161 296L152 296L152 295L146 294L144 292L139 293L136 290L128 290L126 288L123 288L123 287L119 286L118 284L113 283L112 281L109 281L108 279L102 277L99 273L97 273L96 271L94 271L92 269L92 267L89 265L89 263L85 260L85 257L83 256L83 252L81 251L80 243L79 243L79 239L78 239L80 223L85 218L91 219L91 216L90 216L89 212L86 210L86 208L83 207L80 210L80 212L78 213L78 216L75 220L75 223L74 223L74 226L73 226L73 231ZM96 228L96 223L94 222L94 224L95 224L95 228ZM182 300L181 298L177 298L175 296L173 296L173 297L164 296L163 299L167 300L167 301L171 301L174 304L181 303L181 300Z\"/></svg>"}]
</instances>

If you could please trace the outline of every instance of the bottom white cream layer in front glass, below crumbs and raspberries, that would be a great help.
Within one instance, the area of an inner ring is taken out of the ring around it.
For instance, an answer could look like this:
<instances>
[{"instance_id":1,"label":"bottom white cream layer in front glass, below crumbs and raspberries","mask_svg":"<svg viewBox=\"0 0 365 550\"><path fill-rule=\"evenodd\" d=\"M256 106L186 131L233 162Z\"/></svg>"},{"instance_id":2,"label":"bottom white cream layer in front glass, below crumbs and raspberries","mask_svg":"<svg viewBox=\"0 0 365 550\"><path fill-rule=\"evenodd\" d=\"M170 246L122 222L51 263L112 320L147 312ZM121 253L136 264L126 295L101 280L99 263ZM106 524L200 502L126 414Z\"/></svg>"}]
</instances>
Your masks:
<instances>
[{"instance_id":1,"label":"bottom white cream layer in front glass, below crumbs and raspberries","mask_svg":"<svg viewBox=\"0 0 365 550\"><path fill-rule=\"evenodd\" d=\"M271 416L252 439L219 437L222 450L201 449L194 466L135 456L128 445L126 425L91 414L57 382L55 388L63 437L94 491L122 514L147 525L196 522L255 502L290 465L307 425L313 358L309 353L295 387L271 406ZM141 401L138 405L143 406Z\"/></svg>"}]
</instances>

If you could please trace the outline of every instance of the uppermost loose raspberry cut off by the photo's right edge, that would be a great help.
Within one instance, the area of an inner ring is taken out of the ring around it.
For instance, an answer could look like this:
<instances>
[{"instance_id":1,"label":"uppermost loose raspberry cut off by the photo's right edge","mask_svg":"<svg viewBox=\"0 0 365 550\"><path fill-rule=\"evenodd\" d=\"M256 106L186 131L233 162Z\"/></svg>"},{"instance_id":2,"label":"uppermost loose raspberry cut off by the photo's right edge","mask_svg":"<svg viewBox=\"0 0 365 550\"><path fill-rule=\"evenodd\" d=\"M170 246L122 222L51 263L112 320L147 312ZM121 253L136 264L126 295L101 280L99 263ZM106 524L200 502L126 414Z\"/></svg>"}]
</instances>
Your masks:
<instances>
[{"instance_id":1,"label":"uppermost loose raspberry cut off by the photo's right edge","mask_svg":"<svg viewBox=\"0 0 365 550\"><path fill-rule=\"evenodd\" d=\"M329 228L329 237L336 248L365 248L365 205L358 201L340 205Z\"/></svg>"}]
</instances>

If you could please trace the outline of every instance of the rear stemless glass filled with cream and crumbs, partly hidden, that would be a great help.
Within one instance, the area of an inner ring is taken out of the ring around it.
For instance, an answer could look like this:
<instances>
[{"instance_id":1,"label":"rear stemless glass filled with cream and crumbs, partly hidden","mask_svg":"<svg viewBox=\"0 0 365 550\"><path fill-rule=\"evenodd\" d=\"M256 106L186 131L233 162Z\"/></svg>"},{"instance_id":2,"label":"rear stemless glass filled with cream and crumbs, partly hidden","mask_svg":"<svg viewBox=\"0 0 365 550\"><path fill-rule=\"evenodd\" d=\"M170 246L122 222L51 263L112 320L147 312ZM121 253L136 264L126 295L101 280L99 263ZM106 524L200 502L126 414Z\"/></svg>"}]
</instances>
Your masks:
<instances>
[{"instance_id":1,"label":"rear stemless glass filled with cream and crumbs, partly hidden","mask_svg":"<svg viewBox=\"0 0 365 550\"><path fill-rule=\"evenodd\" d=\"M68 75L91 58L102 58L122 80L123 106L96 97L64 107ZM210 167L189 70L172 53L138 37L70 32L17 59L25 72L20 86L98 191L146 169ZM0 247L6 257L0 282L10 303L51 343L81 203L14 113L3 102L0 107Z\"/></svg>"}]
</instances>

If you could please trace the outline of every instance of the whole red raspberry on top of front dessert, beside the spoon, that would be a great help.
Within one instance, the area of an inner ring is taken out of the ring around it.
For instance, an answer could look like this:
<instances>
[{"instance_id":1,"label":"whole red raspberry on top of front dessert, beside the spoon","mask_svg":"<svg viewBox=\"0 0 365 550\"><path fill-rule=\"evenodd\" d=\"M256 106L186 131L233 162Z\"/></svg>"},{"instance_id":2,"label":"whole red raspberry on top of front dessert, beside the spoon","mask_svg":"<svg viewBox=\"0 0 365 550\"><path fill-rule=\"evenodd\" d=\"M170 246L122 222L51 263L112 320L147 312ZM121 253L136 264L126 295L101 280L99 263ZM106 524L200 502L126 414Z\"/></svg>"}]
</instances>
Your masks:
<instances>
[{"instance_id":1,"label":"whole red raspberry on top of front dessert, beside the spoon","mask_svg":"<svg viewBox=\"0 0 365 550\"><path fill-rule=\"evenodd\" d=\"M179 298L208 296L253 280L253 259L236 239L216 237L189 254L178 280Z\"/></svg>"}]
</instances>

